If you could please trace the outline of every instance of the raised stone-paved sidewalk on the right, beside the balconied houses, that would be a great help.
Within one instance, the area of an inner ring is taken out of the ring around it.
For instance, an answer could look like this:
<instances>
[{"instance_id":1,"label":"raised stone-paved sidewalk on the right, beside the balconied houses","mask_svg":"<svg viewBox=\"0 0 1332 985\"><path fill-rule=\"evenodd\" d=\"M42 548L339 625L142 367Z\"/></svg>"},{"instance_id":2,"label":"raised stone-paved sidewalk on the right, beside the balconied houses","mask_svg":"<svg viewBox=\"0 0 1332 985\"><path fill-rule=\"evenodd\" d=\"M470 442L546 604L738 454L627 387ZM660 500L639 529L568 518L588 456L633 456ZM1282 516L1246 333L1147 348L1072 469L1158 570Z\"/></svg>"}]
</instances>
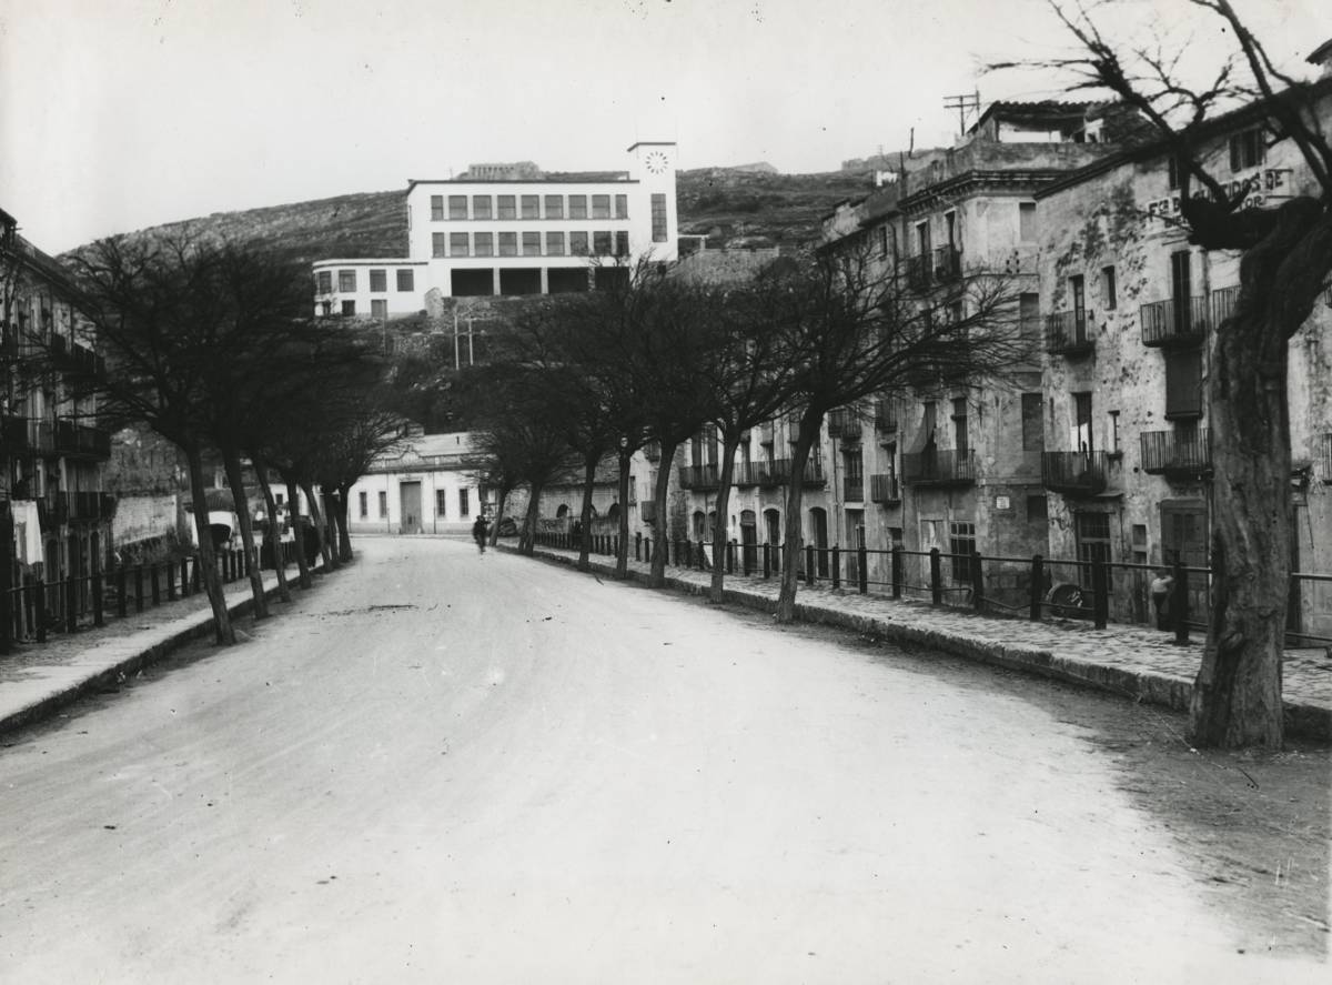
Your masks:
<instances>
[{"instance_id":1,"label":"raised stone-paved sidewalk on the right, beside the balconied houses","mask_svg":"<svg viewBox=\"0 0 1332 985\"><path fill-rule=\"evenodd\" d=\"M501 545L502 549L509 549ZM574 550L537 548L537 556L573 565ZM593 570L610 574L614 558L594 554ZM647 580L645 561L629 561L629 576ZM666 568L666 584L690 594L706 594L711 572ZM726 576L726 601L771 612L778 580ZM1116 694L1188 709L1193 677L1203 660L1203 638L1176 646L1172 633L1111 624L1095 629L1082 620L1044 620L978 616L967 609L934 608L922 601L894 601L884 596L834 590L802 584L795 596L797 616L805 622L852 629L896 644L930 646L986 664L1054 677ZM1332 741L1332 654L1323 648L1288 650L1281 669L1285 732L1293 737Z\"/></svg>"}]
</instances>

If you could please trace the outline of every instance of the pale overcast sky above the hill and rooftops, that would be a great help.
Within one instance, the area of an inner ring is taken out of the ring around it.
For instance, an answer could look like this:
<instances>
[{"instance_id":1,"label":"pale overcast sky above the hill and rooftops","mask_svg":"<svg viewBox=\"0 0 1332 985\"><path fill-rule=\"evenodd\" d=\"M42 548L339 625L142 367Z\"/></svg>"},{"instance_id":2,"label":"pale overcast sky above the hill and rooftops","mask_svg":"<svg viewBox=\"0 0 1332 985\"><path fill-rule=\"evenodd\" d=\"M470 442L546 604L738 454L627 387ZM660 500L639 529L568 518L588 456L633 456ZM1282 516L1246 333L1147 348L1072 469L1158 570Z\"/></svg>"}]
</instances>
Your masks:
<instances>
[{"instance_id":1,"label":"pale overcast sky above the hill and rooftops","mask_svg":"<svg viewBox=\"0 0 1332 985\"><path fill-rule=\"evenodd\" d=\"M1328 0L1236 0L1281 64ZM1124 29L1224 44L1185 0ZM948 96L1058 97L1047 0L0 0L0 208L48 253L210 212L406 188L472 163L835 171L948 144Z\"/></svg>"}]
</instances>

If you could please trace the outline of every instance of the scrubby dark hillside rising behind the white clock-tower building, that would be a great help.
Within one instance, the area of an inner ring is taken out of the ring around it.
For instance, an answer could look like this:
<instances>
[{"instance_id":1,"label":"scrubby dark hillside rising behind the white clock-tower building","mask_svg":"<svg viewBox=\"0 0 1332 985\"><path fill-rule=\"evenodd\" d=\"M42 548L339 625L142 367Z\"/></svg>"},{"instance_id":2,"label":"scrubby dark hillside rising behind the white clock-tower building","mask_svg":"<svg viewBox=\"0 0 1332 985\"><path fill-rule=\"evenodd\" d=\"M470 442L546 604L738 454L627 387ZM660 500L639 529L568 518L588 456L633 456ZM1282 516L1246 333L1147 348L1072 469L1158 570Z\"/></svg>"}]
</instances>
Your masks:
<instances>
[{"instance_id":1,"label":"scrubby dark hillside rising behind the white clock-tower building","mask_svg":"<svg viewBox=\"0 0 1332 985\"><path fill-rule=\"evenodd\" d=\"M757 165L683 171L677 180L679 232L706 236L713 248L793 247L814 239L819 219L838 201L867 191L867 175L847 172L779 175ZM214 212L140 232L189 227L302 264L333 257L405 256L404 192L358 192L244 212Z\"/></svg>"}]
</instances>

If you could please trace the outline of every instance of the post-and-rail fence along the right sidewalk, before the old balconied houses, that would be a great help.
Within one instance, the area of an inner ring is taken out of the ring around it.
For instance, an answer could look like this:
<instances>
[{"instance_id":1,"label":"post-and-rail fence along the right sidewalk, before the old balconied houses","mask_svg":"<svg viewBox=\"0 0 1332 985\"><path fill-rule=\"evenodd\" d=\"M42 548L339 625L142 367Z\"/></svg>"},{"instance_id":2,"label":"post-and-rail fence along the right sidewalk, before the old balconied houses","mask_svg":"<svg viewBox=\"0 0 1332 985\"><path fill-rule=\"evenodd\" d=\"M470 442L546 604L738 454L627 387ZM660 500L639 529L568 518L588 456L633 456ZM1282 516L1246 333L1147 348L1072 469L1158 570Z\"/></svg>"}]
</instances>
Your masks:
<instances>
[{"instance_id":1,"label":"post-and-rail fence along the right sidewalk, before the old balconied houses","mask_svg":"<svg viewBox=\"0 0 1332 985\"><path fill-rule=\"evenodd\" d=\"M589 552L617 556L619 537L593 534ZM543 546L577 550L579 538L570 533L542 532L535 542ZM631 546L635 561L650 561L654 552L665 552L666 564L678 568L711 569L718 564L711 541L654 541L635 536ZM782 572L783 552L777 544L725 545L719 562L729 574L774 577ZM1110 622L1155 625L1173 633L1177 642L1189 642L1193 632L1205 633L1209 616L1212 572L1176 562L1168 565L1171 585L1166 596L1164 616L1154 605L1151 586L1162 565L1068 558L992 557L979 552L948 553L931 550L870 550L839 546L805 545L799 553L799 578L809 585L826 584L835 589L882 594L891 598L914 598L932 605L967 608L990 616L1042 620L1047 617L1082 618L1098 629ZM1320 593L1332 608L1332 574L1291 573L1291 593L1296 598ZM1319 636L1287 629L1287 645L1327 645L1332 636Z\"/></svg>"}]
</instances>

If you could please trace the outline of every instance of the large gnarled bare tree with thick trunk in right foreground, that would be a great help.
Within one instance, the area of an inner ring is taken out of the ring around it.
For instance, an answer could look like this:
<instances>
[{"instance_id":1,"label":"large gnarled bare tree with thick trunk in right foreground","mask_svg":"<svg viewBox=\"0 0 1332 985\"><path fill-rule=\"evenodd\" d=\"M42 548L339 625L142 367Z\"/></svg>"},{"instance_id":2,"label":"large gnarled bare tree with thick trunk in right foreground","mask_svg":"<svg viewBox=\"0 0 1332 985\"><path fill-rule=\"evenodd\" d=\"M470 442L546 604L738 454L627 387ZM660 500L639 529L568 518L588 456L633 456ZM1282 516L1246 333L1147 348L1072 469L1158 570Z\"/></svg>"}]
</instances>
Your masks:
<instances>
[{"instance_id":1,"label":"large gnarled bare tree with thick trunk in right foreground","mask_svg":"<svg viewBox=\"0 0 1332 985\"><path fill-rule=\"evenodd\" d=\"M1151 121L1173 159L1189 241L1240 259L1239 299L1216 329L1209 387L1212 606L1192 697L1192 738L1204 746L1283 744L1281 653L1291 570L1291 435L1287 356L1332 273L1332 145L1317 107L1332 85L1281 72L1228 0L1192 0L1233 45L1213 76L1192 84L1168 47L1102 33L1087 9L1051 3L1079 51L1035 63L1070 73L1075 89L1108 89ZM996 68L1011 68L1003 63ZM1237 105L1264 139L1291 141L1315 191L1251 208L1247 187L1209 167L1217 123Z\"/></svg>"}]
</instances>

